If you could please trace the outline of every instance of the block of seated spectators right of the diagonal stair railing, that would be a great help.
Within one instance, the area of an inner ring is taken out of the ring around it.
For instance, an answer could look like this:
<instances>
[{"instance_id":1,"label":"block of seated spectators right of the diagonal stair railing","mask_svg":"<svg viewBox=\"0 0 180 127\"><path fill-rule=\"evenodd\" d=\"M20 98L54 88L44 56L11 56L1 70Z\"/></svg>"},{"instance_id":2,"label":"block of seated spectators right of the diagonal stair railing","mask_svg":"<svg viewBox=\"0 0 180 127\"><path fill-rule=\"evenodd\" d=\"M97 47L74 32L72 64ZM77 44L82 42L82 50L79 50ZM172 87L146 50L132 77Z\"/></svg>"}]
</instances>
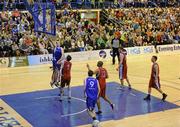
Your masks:
<instances>
[{"instance_id":1,"label":"block of seated spectators right of the diagonal stair railing","mask_svg":"<svg viewBox=\"0 0 180 127\"><path fill-rule=\"evenodd\" d=\"M180 8L108 10L109 19L122 23L115 27L125 46L180 43Z\"/></svg>"}]
</instances>

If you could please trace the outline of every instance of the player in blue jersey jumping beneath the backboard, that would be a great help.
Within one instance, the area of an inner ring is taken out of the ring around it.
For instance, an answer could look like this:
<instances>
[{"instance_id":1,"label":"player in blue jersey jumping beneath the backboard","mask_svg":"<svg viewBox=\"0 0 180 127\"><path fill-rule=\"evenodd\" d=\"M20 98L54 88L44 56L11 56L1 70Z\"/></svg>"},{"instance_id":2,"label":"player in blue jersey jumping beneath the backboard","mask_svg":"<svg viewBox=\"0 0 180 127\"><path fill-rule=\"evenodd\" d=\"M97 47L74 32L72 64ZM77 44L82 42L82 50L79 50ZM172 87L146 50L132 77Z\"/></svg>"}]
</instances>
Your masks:
<instances>
[{"instance_id":1,"label":"player in blue jersey jumping beneath the backboard","mask_svg":"<svg viewBox=\"0 0 180 127\"><path fill-rule=\"evenodd\" d=\"M53 74L51 77L51 86L58 85L58 83L61 81L61 75L62 75L62 67L63 67L63 60L64 60L64 50L62 47L60 47L60 44L56 43L56 47L53 51Z\"/></svg>"}]
</instances>

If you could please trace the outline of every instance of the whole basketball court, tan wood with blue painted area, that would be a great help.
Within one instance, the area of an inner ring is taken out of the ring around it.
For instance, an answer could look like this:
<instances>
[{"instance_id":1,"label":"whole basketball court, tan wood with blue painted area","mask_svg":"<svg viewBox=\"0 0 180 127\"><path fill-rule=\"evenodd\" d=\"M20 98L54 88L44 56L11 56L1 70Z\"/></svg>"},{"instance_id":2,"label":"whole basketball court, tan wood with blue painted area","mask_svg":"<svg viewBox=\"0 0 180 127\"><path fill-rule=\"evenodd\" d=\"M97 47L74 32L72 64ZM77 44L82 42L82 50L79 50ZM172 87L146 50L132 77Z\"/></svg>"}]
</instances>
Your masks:
<instances>
[{"instance_id":1,"label":"whole basketball court, tan wood with blue painted area","mask_svg":"<svg viewBox=\"0 0 180 127\"><path fill-rule=\"evenodd\" d=\"M144 101L151 71L153 54L128 56L128 74L132 90L117 90L116 65L103 59L109 72L107 95L115 110L102 102L102 115L97 118L102 127L178 127L180 126L180 52L156 54L160 65L162 89L168 94L166 102L155 90L152 100ZM2 68L0 71L1 126L5 123L24 127L90 127L83 97L83 80L87 76L86 63L96 68L96 60L72 62L72 99L59 101L59 90L49 85L51 65ZM2 124L3 123L3 124ZM7 124L8 125L8 124Z\"/></svg>"}]
</instances>

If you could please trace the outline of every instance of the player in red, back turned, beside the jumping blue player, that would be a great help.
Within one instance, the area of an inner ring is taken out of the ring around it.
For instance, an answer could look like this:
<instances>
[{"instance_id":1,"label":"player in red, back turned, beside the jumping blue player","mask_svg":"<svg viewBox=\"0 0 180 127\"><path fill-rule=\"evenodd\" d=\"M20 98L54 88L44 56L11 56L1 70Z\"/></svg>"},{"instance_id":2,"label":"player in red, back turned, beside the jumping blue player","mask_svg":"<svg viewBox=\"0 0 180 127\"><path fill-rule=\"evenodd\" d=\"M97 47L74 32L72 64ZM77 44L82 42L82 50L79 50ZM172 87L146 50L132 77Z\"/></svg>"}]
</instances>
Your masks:
<instances>
[{"instance_id":1,"label":"player in red, back turned, beside the jumping blue player","mask_svg":"<svg viewBox=\"0 0 180 127\"><path fill-rule=\"evenodd\" d=\"M63 94L63 88L68 86L68 99L71 99L71 89L70 89L70 82L71 82L71 56L68 55L66 60L64 61L63 68L62 68L62 77L61 77L61 86L60 86L60 96Z\"/></svg>"}]
</instances>

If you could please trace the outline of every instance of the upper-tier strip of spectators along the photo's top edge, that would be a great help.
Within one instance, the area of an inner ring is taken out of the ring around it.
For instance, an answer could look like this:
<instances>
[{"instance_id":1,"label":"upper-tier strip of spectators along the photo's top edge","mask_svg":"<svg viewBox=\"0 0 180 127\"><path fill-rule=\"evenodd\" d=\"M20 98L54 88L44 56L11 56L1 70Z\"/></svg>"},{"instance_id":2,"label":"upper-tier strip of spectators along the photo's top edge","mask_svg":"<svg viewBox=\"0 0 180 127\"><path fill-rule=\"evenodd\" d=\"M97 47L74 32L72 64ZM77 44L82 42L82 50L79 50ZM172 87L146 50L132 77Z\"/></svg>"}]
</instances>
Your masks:
<instances>
[{"instance_id":1,"label":"upper-tier strip of spectators along the photo's top edge","mask_svg":"<svg viewBox=\"0 0 180 127\"><path fill-rule=\"evenodd\" d=\"M34 2L53 2L56 9L69 6L72 9L122 8L122 7L179 7L180 0L27 0ZM4 8L25 10L24 0L0 0L0 10Z\"/></svg>"}]
</instances>

